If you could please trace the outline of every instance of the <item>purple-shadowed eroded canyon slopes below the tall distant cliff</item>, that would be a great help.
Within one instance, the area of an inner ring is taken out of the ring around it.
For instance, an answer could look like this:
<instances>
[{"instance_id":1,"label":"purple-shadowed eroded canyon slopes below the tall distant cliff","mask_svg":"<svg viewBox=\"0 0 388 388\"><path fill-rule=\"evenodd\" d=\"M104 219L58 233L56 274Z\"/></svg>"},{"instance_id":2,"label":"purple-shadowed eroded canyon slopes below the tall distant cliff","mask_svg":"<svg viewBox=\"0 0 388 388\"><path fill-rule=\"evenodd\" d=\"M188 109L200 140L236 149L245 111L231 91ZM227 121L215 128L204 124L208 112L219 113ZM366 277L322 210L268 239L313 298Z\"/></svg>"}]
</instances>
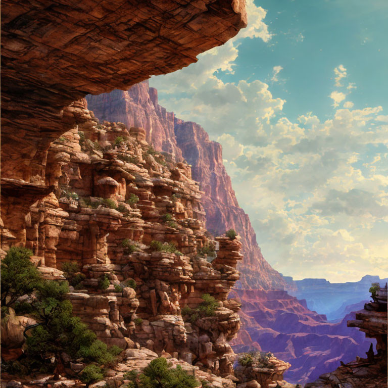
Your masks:
<instances>
[{"instance_id":1,"label":"purple-shadowed eroded canyon slopes below the tall distant cliff","mask_svg":"<svg viewBox=\"0 0 388 388\"><path fill-rule=\"evenodd\" d=\"M337 324L310 311L284 291L234 289L230 297L241 301L241 330L231 345L236 353L259 350L272 352L292 364L285 378L306 383L355 354L365 352L371 341L346 325L352 313ZM374 341L373 341L374 343Z\"/></svg>"}]
</instances>

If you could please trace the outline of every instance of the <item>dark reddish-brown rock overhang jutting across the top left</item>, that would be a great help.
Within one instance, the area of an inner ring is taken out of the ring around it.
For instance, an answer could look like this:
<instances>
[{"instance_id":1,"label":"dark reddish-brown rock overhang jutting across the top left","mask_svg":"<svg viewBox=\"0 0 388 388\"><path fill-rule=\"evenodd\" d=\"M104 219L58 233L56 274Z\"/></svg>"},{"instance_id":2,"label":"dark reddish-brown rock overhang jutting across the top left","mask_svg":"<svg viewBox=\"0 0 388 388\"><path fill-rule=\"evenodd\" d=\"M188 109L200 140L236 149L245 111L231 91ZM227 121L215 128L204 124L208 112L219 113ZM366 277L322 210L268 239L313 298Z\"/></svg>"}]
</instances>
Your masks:
<instances>
[{"instance_id":1,"label":"dark reddish-brown rock overhang jutting across the top left","mask_svg":"<svg viewBox=\"0 0 388 388\"><path fill-rule=\"evenodd\" d=\"M44 185L50 143L75 124L69 104L196 62L246 24L235 0L6 0L2 177Z\"/></svg>"}]
</instances>

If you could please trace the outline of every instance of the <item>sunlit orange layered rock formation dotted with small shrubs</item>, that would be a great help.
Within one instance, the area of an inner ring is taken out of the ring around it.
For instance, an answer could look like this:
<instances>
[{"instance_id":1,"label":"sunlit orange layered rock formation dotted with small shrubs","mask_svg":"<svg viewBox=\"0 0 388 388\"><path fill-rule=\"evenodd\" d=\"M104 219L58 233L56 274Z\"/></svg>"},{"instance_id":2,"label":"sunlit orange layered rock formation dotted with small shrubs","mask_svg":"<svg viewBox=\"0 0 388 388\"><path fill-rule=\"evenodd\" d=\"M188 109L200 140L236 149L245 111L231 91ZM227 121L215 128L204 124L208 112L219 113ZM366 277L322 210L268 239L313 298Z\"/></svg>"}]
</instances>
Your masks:
<instances>
[{"instance_id":1,"label":"sunlit orange layered rock formation dotted with small shrubs","mask_svg":"<svg viewBox=\"0 0 388 388\"><path fill-rule=\"evenodd\" d=\"M227 295L238 279L241 243L206 237L190 167L155 153L142 128L100 124L82 101L72 109L78 125L49 149L54 191L28 209L24 245L54 279L63 279L63 263L78 263L86 278L68 294L73 312L108 345L232 375L228 342L240 327L240 305ZM210 244L213 260L200 253ZM204 294L217 301L212 316L184 321L181 309L196 311Z\"/></svg>"}]
</instances>

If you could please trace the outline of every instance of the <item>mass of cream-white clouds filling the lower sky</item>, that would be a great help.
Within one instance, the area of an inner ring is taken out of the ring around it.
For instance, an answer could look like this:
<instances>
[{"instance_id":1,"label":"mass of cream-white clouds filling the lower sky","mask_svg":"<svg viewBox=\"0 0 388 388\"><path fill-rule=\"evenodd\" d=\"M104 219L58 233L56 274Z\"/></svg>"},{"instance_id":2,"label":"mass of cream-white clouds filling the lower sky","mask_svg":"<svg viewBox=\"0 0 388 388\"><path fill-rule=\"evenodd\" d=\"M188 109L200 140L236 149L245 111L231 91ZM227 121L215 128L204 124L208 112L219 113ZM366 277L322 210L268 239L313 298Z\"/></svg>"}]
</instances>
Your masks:
<instances>
[{"instance_id":1,"label":"mass of cream-white clouds filling the lower sky","mask_svg":"<svg viewBox=\"0 0 388 388\"><path fill-rule=\"evenodd\" d=\"M237 200L277 270L331 281L388 276L388 116L380 106L355 109L346 101L355 86L344 86L344 65L334 69L335 109L324 120L313 112L295 122L284 117L286 101L260 80L222 81L220 72L233 72L240 39L271 38L265 11L247 4L247 30L198 63L151 80L160 104L222 144ZM282 69L273 65L277 78Z\"/></svg>"}]
</instances>

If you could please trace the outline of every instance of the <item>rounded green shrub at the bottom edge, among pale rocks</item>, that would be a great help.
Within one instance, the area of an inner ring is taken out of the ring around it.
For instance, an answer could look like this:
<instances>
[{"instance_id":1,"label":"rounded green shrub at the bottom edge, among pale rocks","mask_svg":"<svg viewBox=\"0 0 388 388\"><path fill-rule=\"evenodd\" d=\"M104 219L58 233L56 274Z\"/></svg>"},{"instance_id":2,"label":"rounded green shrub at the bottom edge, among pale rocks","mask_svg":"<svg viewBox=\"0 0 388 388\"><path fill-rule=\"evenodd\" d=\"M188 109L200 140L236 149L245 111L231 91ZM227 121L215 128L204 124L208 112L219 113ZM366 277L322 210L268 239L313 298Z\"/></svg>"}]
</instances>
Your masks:
<instances>
[{"instance_id":1,"label":"rounded green shrub at the bottom edge, among pale rocks","mask_svg":"<svg viewBox=\"0 0 388 388\"><path fill-rule=\"evenodd\" d=\"M130 381L128 388L195 388L200 385L180 365L169 368L170 365L165 358L159 357L140 374L137 371L125 373L124 378Z\"/></svg>"}]
</instances>

